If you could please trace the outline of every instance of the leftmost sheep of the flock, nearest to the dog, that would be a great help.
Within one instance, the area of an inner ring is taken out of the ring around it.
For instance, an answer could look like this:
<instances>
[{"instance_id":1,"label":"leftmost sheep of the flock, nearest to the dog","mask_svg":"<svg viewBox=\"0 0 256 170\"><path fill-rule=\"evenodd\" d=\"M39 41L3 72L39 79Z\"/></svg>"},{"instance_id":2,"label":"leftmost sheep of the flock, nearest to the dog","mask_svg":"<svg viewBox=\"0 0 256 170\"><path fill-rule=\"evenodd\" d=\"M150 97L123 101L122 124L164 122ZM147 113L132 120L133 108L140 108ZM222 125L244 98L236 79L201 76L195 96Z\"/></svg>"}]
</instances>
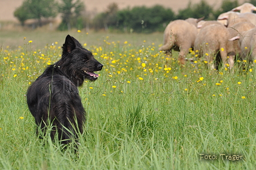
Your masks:
<instances>
[{"instance_id":1,"label":"leftmost sheep of the flock, nearest to the dog","mask_svg":"<svg viewBox=\"0 0 256 170\"><path fill-rule=\"evenodd\" d=\"M185 56L189 53L189 48L194 46L197 35L197 23L203 18L188 18L186 20L175 20L166 26L163 33L163 46L159 51L170 52L171 50L179 51L179 63L185 64Z\"/></svg>"}]
</instances>

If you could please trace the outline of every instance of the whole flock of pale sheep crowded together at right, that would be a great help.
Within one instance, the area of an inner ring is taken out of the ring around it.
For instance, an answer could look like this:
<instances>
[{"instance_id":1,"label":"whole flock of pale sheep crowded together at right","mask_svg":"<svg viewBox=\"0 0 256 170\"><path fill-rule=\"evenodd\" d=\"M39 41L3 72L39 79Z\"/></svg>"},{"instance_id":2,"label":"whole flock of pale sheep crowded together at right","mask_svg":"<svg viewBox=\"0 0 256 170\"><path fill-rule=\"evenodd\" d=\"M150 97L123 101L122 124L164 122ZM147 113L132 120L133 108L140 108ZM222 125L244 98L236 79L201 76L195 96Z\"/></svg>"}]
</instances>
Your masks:
<instances>
[{"instance_id":1,"label":"whole flock of pale sheep crowded together at right","mask_svg":"<svg viewBox=\"0 0 256 170\"><path fill-rule=\"evenodd\" d=\"M256 14L253 11L256 11L254 5L243 3L219 15L217 21L203 21L203 18L172 21L165 29L163 46L159 50L170 54L171 49L179 51L179 62L185 64L185 57L193 48L216 69L215 55L230 69L235 56L252 62L256 59Z\"/></svg>"}]
</instances>

